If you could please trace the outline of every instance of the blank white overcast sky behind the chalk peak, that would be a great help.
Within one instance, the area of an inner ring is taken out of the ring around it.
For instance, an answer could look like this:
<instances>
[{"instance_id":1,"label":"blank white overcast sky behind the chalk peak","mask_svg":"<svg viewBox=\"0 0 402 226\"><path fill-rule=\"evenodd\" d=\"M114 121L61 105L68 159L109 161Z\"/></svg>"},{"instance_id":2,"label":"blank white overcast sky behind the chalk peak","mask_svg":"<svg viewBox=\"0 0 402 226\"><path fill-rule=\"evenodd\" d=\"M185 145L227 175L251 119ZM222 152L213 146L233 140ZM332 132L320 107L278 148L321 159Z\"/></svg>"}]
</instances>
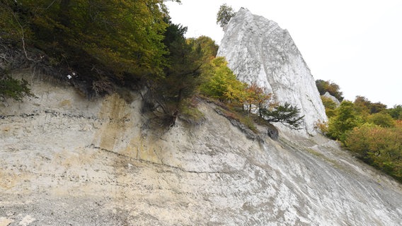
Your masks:
<instances>
[{"instance_id":1,"label":"blank white overcast sky behind the chalk peak","mask_svg":"<svg viewBox=\"0 0 402 226\"><path fill-rule=\"evenodd\" d=\"M315 79L340 85L345 99L356 95L388 107L402 105L401 0L181 0L168 2L173 23L187 37L206 35L220 43L219 6L277 22L292 35Z\"/></svg>"}]
</instances>

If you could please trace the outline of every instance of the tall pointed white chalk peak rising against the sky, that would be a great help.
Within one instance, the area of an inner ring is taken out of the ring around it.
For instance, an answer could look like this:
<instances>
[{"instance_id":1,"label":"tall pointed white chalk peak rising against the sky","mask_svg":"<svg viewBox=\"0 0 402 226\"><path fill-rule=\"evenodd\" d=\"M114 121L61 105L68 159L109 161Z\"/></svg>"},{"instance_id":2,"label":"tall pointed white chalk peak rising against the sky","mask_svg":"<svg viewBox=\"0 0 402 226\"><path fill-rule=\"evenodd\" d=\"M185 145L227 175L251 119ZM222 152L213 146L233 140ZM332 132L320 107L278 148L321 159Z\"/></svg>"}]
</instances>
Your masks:
<instances>
[{"instance_id":1,"label":"tall pointed white chalk peak rising against the sky","mask_svg":"<svg viewBox=\"0 0 402 226\"><path fill-rule=\"evenodd\" d=\"M239 80L299 107L308 133L315 134L316 122L327 120L309 67L289 32L274 21L241 8L226 26L218 56L226 57Z\"/></svg>"}]
</instances>

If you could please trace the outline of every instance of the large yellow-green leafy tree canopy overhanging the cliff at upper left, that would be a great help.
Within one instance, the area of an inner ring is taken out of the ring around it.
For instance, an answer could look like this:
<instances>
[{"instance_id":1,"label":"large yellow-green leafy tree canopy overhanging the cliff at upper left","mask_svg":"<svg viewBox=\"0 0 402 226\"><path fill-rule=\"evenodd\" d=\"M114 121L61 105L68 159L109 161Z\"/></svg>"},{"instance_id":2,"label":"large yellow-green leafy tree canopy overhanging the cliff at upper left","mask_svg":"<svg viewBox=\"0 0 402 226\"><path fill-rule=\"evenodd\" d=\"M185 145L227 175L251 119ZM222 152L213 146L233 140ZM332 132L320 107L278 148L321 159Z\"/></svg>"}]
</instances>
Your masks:
<instances>
[{"instance_id":1,"label":"large yellow-green leafy tree canopy overhanging the cliff at upper left","mask_svg":"<svg viewBox=\"0 0 402 226\"><path fill-rule=\"evenodd\" d=\"M163 0L6 0L2 5L11 9L0 16L6 36L22 38L82 80L159 76L166 65Z\"/></svg>"}]
</instances>

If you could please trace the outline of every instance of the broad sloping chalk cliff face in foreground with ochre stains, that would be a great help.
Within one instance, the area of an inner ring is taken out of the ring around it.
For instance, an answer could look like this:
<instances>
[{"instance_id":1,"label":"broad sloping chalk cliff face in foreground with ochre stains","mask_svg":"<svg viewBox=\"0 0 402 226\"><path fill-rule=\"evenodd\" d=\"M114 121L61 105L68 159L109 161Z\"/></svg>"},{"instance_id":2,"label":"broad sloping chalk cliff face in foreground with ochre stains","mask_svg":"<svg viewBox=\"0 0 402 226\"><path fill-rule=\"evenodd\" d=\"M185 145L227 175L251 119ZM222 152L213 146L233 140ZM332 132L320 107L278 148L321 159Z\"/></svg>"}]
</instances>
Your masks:
<instances>
[{"instance_id":1,"label":"broad sloping chalk cliff face in foreground with ochre stains","mask_svg":"<svg viewBox=\"0 0 402 226\"><path fill-rule=\"evenodd\" d=\"M253 141L208 103L150 129L136 93L33 92L0 107L0 225L401 225L401 186L326 138Z\"/></svg>"}]
</instances>

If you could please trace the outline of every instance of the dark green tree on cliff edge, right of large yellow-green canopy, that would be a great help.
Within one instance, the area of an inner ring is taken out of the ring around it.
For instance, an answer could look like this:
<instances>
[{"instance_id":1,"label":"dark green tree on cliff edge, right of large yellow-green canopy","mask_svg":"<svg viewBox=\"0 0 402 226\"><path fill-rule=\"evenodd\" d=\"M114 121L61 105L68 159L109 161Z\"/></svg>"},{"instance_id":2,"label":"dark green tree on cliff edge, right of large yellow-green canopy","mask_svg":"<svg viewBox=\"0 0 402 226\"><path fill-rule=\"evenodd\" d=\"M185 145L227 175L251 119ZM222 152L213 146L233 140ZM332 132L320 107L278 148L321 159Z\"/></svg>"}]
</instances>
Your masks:
<instances>
[{"instance_id":1,"label":"dark green tree on cliff edge, right of large yellow-green canopy","mask_svg":"<svg viewBox=\"0 0 402 226\"><path fill-rule=\"evenodd\" d=\"M184 37L186 27L173 24L167 18L166 23L169 26L163 43L168 53L165 54L167 64L163 68L163 75L144 80L151 92L149 102L156 103L154 109L162 109L163 114L171 115L178 113L182 100L197 92L206 57L203 57L200 43Z\"/></svg>"}]
</instances>

